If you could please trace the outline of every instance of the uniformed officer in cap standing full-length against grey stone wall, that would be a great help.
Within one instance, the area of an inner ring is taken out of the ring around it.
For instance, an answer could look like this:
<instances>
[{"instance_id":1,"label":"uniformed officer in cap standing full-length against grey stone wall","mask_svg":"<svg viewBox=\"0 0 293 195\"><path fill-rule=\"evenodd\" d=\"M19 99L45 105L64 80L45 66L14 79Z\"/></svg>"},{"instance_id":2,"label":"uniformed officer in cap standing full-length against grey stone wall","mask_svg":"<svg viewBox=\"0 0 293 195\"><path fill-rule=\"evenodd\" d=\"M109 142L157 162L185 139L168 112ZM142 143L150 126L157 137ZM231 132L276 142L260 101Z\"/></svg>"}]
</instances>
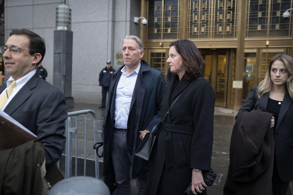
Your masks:
<instances>
[{"instance_id":1,"label":"uniformed officer in cap standing full-length against grey stone wall","mask_svg":"<svg viewBox=\"0 0 293 195\"><path fill-rule=\"evenodd\" d=\"M115 72L115 69L111 66L111 61L108 60L106 67L102 69L99 74L99 86L102 86L102 105L99 108L105 108L106 105L106 95L109 92L109 86L112 74Z\"/></svg>"}]
</instances>

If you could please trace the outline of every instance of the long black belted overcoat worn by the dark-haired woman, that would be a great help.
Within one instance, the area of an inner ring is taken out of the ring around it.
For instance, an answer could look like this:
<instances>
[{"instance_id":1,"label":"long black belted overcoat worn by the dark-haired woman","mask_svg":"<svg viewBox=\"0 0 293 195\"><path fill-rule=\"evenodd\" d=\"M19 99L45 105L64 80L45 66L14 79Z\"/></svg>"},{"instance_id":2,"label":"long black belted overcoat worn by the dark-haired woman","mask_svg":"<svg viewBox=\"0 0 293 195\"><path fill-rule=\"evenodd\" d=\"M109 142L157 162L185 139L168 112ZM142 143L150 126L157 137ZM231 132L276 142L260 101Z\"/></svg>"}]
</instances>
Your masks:
<instances>
[{"instance_id":1,"label":"long black belted overcoat worn by the dark-haired woman","mask_svg":"<svg viewBox=\"0 0 293 195\"><path fill-rule=\"evenodd\" d=\"M192 168L208 170L211 167L215 91L205 79L188 81L183 76L176 85L178 81L179 77L175 75L162 101L163 119L172 101L182 92L159 133L145 194L183 194L191 182ZM193 129L193 133L188 135L167 131L167 124L177 126L177 131ZM172 150L167 150L172 152L167 154L165 142L170 135Z\"/></svg>"}]
</instances>

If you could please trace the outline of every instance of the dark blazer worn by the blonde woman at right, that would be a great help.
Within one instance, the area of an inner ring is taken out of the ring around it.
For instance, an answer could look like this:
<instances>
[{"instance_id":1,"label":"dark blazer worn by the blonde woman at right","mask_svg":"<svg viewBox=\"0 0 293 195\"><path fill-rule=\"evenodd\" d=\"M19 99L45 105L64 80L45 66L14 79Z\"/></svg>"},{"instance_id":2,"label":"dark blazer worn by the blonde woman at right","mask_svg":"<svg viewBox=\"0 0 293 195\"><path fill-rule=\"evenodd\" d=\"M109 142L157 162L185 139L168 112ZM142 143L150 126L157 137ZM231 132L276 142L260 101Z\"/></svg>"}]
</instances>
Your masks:
<instances>
[{"instance_id":1,"label":"dark blazer worn by the blonde woman at right","mask_svg":"<svg viewBox=\"0 0 293 195\"><path fill-rule=\"evenodd\" d=\"M238 111L262 110L267 112L266 107L269 101L269 92L257 98L258 87L251 87L251 90ZM283 182L293 180L293 104L288 90L286 89L283 102L279 111L278 121L275 129L275 154L276 164L280 179ZM236 116L236 118L237 118Z\"/></svg>"}]
</instances>

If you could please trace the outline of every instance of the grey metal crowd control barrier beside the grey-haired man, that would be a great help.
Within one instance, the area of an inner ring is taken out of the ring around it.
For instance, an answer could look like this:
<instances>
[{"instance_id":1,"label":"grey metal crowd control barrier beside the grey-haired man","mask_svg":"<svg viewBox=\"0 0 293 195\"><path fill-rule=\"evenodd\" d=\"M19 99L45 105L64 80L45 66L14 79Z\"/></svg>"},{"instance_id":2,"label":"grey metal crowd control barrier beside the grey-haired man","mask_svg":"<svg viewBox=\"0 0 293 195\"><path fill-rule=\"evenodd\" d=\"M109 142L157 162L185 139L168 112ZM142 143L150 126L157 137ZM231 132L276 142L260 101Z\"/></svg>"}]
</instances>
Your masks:
<instances>
[{"instance_id":1,"label":"grey metal crowd control barrier beside the grey-haired man","mask_svg":"<svg viewBox=\"0 0 293 195\"><path fill-rule=\"evenodd\" d=\"M97 125L100 121L97 120L96 113L92 110L80 110L75 112L68 112L68 118L66 119L66 151L65 151L65 178L71 177L72 168L72 133L75 133L75 176L77 176L77 150L78 150L78 115L85 114L85 144L84 144L84 176L86 173L86 115L90 113L93 116L93 129L94 129L94 143L97 143ZM71 116L76 116L75 127L72 127ZM95 172L96 178L99 179L99 158L94 149L92 149L95 155Z\"/></svg>"}]
</instances>

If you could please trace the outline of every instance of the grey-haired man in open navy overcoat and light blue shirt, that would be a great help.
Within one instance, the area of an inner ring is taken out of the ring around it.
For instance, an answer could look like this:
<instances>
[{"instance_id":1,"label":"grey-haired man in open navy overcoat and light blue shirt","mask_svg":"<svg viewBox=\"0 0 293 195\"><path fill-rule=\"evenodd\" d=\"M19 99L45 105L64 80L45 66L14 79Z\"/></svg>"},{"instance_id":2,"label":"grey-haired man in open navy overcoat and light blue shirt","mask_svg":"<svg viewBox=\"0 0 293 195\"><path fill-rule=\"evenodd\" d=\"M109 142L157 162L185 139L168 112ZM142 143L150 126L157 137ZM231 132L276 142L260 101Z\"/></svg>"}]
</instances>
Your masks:
<instances>
[{"instance_id":1,"label":"grey-haired man in open navy overcoat and light blue shirt","mask_svg":"<svg viewBox=\"0 0 293 195\"><path fill-rule=\"evenodd\" d=\"M130 178L144 193L149 162L134 156L141 139L160 122L165 92L162 73L141 60L142 41L127 35L123 41L124 65L113 73L103 123L104 179L111 193L131 194ZM130 176L132 166L132 176Z\"/></svg>"}]
</instances>

